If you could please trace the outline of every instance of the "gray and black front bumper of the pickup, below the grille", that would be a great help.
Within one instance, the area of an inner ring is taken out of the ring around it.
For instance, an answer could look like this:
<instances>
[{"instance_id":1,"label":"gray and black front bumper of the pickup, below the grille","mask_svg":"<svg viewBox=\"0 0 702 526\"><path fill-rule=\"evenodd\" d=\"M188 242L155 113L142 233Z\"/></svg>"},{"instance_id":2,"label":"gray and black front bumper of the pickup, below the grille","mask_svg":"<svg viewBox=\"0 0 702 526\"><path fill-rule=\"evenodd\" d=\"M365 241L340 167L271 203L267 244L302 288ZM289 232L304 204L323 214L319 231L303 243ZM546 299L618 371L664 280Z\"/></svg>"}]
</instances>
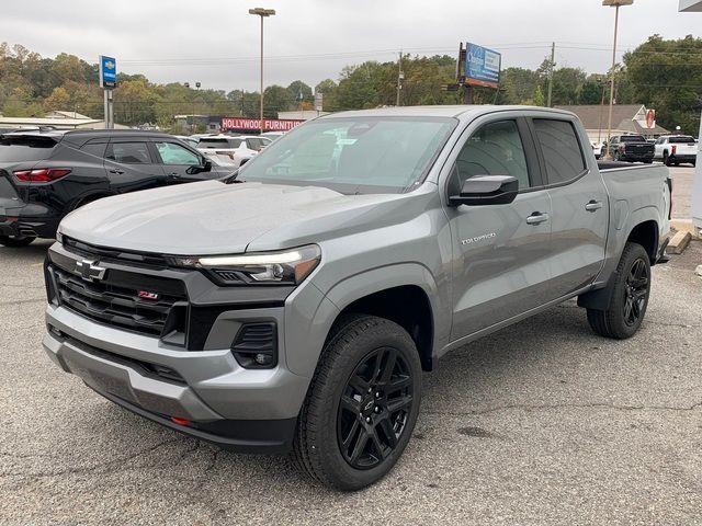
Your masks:
<instances>
[{"instance_id":1,"label":"gray and black front bumper of the pickup, below the grille","mask_svg":"<svg viewBox=\"0 0 702 526\"><path fill-rule=\"evenodd\" d=\"M282 309L270 310L281 312L252 316L282 317ZM44 348L52 361L115 403L228 449L290 448L308 378L282 365L245 369L229 348L169 348L156 338L105 327L55 305L48 305L46 320Z\"/></svg>"}]
</instances>

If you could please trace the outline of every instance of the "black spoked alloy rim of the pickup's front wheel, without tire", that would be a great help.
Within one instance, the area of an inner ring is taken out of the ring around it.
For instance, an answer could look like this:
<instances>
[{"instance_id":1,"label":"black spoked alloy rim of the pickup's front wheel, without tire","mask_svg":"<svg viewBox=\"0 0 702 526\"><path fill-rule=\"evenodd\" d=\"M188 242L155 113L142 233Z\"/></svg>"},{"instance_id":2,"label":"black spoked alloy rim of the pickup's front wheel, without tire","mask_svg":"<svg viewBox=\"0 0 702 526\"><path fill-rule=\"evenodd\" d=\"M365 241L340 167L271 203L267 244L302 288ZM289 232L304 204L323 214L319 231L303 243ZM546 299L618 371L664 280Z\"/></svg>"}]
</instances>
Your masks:
<instances>
[{"instance_id":1,"label":"black spoked alloy rim of the pickup's front wheel, without tire","mask_svg":"<svg viewBox=\"0 0 702 526\"><path fill-rule=\"evenodd\" d=\"M370 353L343 390L337 415L341 455L355 469L371 469L397 447L412 407L411 369L393 347Z\"/></svg>"}]
</instances>

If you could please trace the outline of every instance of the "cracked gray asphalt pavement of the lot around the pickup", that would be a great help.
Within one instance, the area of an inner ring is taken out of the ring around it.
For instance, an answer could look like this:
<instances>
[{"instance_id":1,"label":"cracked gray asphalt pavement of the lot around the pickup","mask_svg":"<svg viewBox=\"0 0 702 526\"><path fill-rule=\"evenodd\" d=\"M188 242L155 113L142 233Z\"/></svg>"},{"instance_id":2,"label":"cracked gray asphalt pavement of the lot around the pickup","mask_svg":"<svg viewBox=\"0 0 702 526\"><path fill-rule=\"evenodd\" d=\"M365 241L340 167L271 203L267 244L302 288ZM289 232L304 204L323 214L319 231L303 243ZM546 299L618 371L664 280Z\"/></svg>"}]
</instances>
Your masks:
<instances>
[{"instance_id":1,"label":"cracked gray asphalt pavement of the lot around the pickup","mask_svg":"<svg viewBox=\"0 0 702 526\"><path fill-rule=\"evenodd\" d=\"M0 247L0 524L702 524L702 243L641 332L574 302L445 356L398 466L353 494L102 399L44 355L47 242Z\"/></svg>"}]
</instances>

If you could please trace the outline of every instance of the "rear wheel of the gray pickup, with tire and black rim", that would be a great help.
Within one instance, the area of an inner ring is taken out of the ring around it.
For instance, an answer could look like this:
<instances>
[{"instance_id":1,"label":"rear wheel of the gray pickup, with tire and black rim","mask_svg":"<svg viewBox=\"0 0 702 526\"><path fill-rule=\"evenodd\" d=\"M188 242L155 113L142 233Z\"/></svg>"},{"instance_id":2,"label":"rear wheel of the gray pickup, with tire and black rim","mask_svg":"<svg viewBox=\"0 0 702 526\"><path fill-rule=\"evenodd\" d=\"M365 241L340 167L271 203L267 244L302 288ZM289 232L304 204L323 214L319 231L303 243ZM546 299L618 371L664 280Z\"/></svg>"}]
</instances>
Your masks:
<instances>
[{"instance_id":1,"label":"rear wheel of the gray pickup, with tire and black rim","mask_svg":"<svg viewBox=\"0 0 702 526\"><path fill-rule=\"evenodd\" d=\"M626 243L607 310L588 309L590 327L605 338L624 340L633 336L646 315L649 293L648 253L641 244Z\"/></svg>"}]
</instances>

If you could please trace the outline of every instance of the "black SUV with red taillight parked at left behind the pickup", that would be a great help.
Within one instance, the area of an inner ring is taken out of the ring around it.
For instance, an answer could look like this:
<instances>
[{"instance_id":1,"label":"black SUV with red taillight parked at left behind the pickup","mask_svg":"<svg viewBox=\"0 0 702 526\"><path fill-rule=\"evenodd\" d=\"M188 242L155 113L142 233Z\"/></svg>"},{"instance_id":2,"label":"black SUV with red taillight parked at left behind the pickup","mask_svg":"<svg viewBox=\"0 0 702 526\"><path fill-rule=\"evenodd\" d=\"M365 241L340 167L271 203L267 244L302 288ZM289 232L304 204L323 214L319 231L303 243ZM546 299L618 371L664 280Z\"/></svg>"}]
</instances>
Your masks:
<instances>
[{"instance_id":1,"label":"black SUV with red taillight parked at left behind the pickup","mask_svg":"<svg viewBox=\"0 0 702 526\"><path fill-rule=\"evenodd\" d=\"M0 243L53 238L69 211L109 195L231 173L173 136L138 130L0 135Z\"/></svg>"}]
</instances>

